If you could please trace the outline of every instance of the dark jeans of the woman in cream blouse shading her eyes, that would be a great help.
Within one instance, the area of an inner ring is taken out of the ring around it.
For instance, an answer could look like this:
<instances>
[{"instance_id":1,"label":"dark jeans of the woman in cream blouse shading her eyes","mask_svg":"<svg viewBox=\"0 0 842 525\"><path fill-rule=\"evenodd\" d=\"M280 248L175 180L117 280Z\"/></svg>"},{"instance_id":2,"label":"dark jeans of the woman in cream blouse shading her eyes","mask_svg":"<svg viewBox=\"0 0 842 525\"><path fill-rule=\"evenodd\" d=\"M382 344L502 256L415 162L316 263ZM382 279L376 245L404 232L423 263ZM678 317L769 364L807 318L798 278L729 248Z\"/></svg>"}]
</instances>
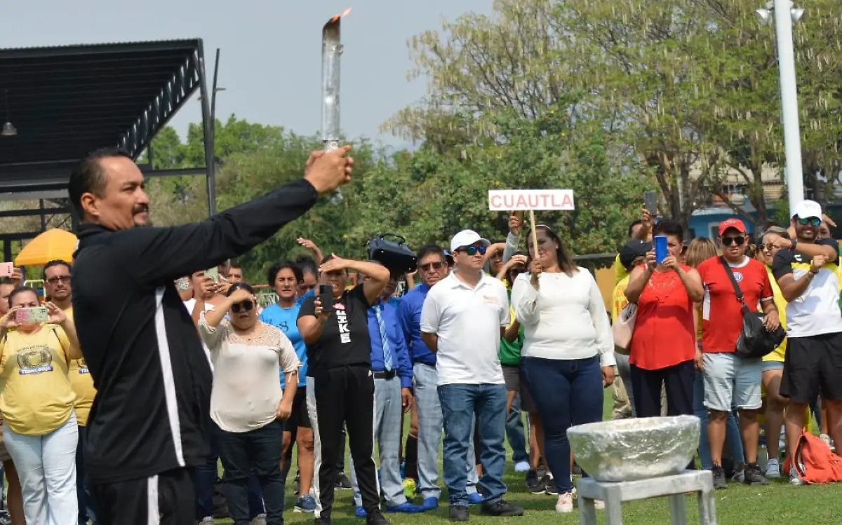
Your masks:
<instances>
[{"instance_id":1,"label":"dark jeans of the woman in cream blouse shading her eyes","mask_svg":"<svg viewBox=\"0 0 842 525\"><path fill-rule=\"evenodd\" d=\"M274 421L249 432L218 432L228 513L235 525L248 525L253 519L249 505L252 473L257 475L264 495L267 525L283 525L285 480L280 474L283 423Z\"/></svg>"}]
</instances>

